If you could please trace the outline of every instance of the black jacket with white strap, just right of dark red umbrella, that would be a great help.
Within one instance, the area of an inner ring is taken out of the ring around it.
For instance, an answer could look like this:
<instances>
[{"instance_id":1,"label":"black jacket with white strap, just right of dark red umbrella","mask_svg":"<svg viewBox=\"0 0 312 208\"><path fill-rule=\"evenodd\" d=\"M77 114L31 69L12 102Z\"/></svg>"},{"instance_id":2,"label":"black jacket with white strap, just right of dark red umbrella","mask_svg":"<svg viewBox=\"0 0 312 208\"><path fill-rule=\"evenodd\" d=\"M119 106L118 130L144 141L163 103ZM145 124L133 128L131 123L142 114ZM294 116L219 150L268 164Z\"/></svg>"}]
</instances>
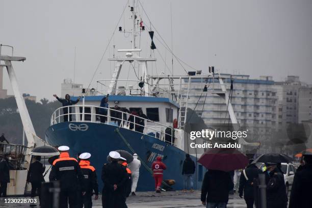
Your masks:
<instances>
[{"instance_id":1,"label":"black jacket with white strap, just right of dark red umbrella","mask_svg":"<svg viewBox=\"0 0 312 208\"><path fill-rule=\"evenodd\" d=\"M258 177L259 173L262 173L254 164L249 165L245 169L245 173L247 175L248 180L242 171L240 176L240 186L239 186L239 193L242 196L244 192L244 198L254 198L253 194L253 179Z\"/></svg>"}]
</instances>

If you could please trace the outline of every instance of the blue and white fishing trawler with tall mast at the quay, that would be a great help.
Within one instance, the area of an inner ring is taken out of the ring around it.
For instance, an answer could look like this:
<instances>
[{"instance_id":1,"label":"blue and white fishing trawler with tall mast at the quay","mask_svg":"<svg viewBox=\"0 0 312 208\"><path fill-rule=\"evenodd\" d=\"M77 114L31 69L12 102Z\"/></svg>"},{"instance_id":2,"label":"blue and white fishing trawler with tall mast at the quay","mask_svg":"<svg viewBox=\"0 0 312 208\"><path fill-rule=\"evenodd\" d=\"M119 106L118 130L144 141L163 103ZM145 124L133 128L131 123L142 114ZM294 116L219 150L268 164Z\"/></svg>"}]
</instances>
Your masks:
<instances>
[{"instance_id":1,"label":"blue and white fishing trawler with tall mast at the quay","mask_svg":"<svg viewBox=\"0 0 312 208\"><path fill-rule=\"evenodd\" d=\"M91 164L98 171L107 163L107 155L112 150L123 149L137 153L143 164L140 168L137 191L154 190L154 180L149 167L155 158L160 156L168 167L164 171L164 179L174 179L173 189L180 190L183 189L183 161L185 154L189 153L189 147L185 145L185 141L188 140L185 126L190 122L189 118L196 114L193 111L192 115L189 115L189 95L203 89L200 93L220 96L227 104L231 122L237 123L224 83L230 80L230 77L220 75L214 70L207 74L202 74L200 70L185 70L184 75L164 72L152 74L148 69L157 58L141 57L141 44L137 44L136 41L143 35L149 35L150 49L153 50L156 49L153 38L157 36L154 37L151 27L148 29L148 26L143 24L142 15L138 12L139 7L142 7L140 1L133 1L125 7L130 13L132 29L118 29L120 33L131 35L132 46L130 49L118 49L120 56L115 56L114 53L114 56L109 58L109 61L115 63L111 79L98 80L96 89L83 89L82 103L56 109L51 115L51 125L45 132L45 140L52 146L69 146L71 155L90 152ZM142 8L141 11L145 12ZM170 48L166 48L175 57ZM123 68L133 69L137 79L120 79ZM137 72L141 76L137 75ZM99 107L107 94L109 108ZM121 111L117 107L115 109L116 105L126 108L131 113ZM67 109L65 112L71 113L63 113L64 109ZM132 113L140 110L146 117ZM200 152L198 155L192 154L193 161L197 161L196 156L200 156ZM200 187L204 172L204 168L196 163L194 188ZM101 188L102 180L100 174L97 175Z\"/></svg>"}]
</instances>

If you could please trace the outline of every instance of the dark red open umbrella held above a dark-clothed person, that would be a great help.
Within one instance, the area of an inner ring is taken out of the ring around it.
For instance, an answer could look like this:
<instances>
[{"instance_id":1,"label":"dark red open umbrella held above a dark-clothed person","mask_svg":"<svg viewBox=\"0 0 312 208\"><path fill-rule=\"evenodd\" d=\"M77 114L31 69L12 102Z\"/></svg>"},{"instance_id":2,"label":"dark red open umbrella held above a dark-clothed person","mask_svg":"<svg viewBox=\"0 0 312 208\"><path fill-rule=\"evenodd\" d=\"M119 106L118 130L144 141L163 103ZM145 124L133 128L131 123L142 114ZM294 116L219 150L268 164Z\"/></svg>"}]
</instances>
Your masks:
<instances>
[{"instance_id":1,"label":"dark red open umbrella held above a dark-clothed person","mask_svg":"<svg viewBox=\"0 0 312 208\"><path fill-rule=\"evenodd\" d=\"M231 171L245 168L248 158L233 148L213 148L201 155L198 162L211 170Z\"/></svg>"}]
</instances>

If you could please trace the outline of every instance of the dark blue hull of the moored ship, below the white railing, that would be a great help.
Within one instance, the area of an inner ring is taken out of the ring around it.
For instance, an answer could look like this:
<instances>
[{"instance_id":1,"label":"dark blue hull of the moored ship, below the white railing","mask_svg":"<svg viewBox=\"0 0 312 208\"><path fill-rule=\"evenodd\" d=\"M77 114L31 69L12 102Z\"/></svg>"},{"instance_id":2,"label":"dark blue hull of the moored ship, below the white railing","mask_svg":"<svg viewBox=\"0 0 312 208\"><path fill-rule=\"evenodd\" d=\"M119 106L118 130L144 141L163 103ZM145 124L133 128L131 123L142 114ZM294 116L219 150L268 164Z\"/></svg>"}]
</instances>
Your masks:
<instances>
[{"instance_id":1,"label":"dark blue hull of the moored ship, below the white railing","mask_svg":"<svg viewBox=\"0 0 312 208\"><path fill-rule=\"evenodd\" d=\"M46 141L53 146L67 145L70 147L71 157L75 157L79 152L90 152L91 165L97 171L99 190L102 189L103 183L101 180L102 165L107 163L107 155L112 150L123 149L131 152L124 140L116 133L115 125L104 123L91 122L62 122L50 126L46 132ZM131 131L125 128L119 128L120 134L125 138L127 143L135 150L141 160L148 167L151 167L152 162L159 155L163 156L163 162L167 165L167 170L164 171L164 179L174 179L174 190L183 189L183 161L185 160L185 152L160 141L149 135L143 135L138 132ZM192 157L196 161L195 157ZM196 168L197 169L197 168ZM202 167L199 167L200 177L194 174L194 188L200 187ZM153 191L154 179L150 172L141 165L140 177L138 181L137 191Z\"/></svg>"}]
</instances>

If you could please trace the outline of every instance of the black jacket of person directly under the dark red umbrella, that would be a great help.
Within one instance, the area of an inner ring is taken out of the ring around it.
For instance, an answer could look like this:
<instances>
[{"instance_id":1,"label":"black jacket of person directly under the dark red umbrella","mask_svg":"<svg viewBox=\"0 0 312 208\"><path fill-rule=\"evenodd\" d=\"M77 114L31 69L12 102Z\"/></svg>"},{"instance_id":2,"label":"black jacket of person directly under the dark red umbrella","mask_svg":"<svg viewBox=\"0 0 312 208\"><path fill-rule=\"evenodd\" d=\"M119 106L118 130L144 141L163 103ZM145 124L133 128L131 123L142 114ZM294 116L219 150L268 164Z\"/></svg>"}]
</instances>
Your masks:
<instances>
[{"instance_id":1,"label":"black jacket of person directly under the dark red umbrella","mask_svg":"<svg viewBox=\"0 0 312 208\"><path fill-rule=\"evenodd\" d=\"M201 201L227 202L228 192L234 187L228 172L209 170L205 173L201 186Z\"/></svg>"}]
</instances>

